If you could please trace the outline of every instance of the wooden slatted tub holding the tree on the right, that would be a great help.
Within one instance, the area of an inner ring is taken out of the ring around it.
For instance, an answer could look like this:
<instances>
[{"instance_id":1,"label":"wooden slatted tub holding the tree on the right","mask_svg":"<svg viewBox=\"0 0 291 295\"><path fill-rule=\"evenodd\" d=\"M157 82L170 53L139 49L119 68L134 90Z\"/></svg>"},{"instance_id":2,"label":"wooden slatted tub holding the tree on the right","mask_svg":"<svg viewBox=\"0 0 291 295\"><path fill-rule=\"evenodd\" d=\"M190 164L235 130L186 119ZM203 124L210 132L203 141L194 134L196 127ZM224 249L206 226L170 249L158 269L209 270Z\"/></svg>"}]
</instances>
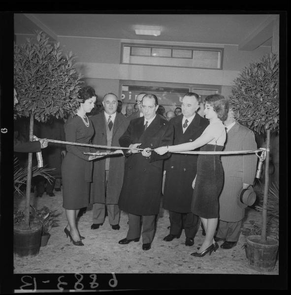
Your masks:
<instances>
[{"instance_id":1,"label":"wooden slatted tub holding the tree on the right","mask_svg":"<svg viewBox=\"0 0 291 295\"><path fill-rule=\"evenodd\" d=\"M247 237L247 258L249 266L259 271L272 271L277 261L279 241L267 237L266 244L260 242L260 236Z\"/></svg>"}]
</instances>

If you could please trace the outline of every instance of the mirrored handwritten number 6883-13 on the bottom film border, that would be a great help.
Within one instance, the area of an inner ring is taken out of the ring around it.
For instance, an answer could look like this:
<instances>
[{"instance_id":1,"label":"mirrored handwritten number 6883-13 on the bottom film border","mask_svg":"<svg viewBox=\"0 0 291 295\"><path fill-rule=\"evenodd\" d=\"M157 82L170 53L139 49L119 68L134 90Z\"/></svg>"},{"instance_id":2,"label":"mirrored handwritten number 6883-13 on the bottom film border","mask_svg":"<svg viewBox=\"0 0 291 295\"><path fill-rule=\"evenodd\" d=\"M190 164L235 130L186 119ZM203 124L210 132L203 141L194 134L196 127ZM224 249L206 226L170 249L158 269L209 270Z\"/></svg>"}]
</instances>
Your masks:
<instances>
[{"instance_id":1,"label":"mirrored handwritten number 6883-13 on the bottom film border","mask_svg":"<svg viewBox=\"0 0 291 295\"><path fill-rule=\"evenodd\" d=\"M114 272L111 272L112 274L112 279L110 279L108 281L108 285L111 287L111 288L115 288L117 286L117 279L116 279L116 275ZM74 284L74 289L75 290L83 290L84 289L84 285L81 283L84 276L80 273L75 273L74 274L75 278L77 279L77 281L75 282ZM27 281L24 280L24 278L27 277L27 278L30 278L32 280L33 283L29 283ZM62 278L64 278L65 276L64 275L61 275L58 277L58 284L57 284L57 288L59 290L64 290L63 287L61 287L62 285L63 286L67 286L67 282L63 281ZM91 289L96 289L99 284L97 283L97 275L95 273L92 273L90 274L90 278L92 279L92 281L90 282L90 288ZM21 290L28 290L27 288L26 289L23 289L25 287L29 287L29 286L33 286L33 290L32 292L36 292L37 290L37 287L36 287L36 279L35 277L32 277L32 276L29 276L29 275L25 275L25 276L22 276L21 277L21 282L24 283L24 285L20 286L20 289Z\"/></svg>"}]
</instances>

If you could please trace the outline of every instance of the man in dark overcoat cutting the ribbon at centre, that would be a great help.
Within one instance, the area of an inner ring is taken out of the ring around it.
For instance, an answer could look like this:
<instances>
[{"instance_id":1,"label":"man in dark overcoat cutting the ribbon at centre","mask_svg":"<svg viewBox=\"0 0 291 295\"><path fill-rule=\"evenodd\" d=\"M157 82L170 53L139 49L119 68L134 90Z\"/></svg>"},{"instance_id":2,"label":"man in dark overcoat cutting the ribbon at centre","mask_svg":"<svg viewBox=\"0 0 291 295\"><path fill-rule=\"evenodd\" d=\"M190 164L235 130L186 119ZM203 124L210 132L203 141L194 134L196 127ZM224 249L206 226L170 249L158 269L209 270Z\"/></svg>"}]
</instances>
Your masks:
<instances>
[{"instance_id":1,"label":"man in dark overcoat cutting the ribbon at centre","mask_svg":"<svg viewBox=\"0 0 291 295\"><path fill-rule=\"evenodd\" d=\"M142 118L130 121L119 143L123 147L145 148L142 152L130 149L127 152L125 176L119 198L119 208L129 213L129 231L120 244L138 241L142 217L142 249L149 250L154 238L155 217L160 211L162 195L163 156L151 151L156 147L173 143L173 129L166 119L156 114L158 98L146 94L142 99Z\"/></svg>"}]
</instances>

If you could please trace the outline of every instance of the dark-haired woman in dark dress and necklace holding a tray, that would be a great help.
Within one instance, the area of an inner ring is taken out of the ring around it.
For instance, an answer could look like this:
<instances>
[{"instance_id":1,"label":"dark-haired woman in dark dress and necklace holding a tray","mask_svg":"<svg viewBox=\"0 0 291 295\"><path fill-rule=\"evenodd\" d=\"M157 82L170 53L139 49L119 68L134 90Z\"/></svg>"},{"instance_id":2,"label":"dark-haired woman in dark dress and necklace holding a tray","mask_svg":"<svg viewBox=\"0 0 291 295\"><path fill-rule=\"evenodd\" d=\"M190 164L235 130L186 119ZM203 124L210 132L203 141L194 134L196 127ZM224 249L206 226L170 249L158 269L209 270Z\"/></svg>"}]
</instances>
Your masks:
<instances>
[{"instance_id":1,"label":"dark-haired woman in dark dress and necklace holding a tray","mask_svg":"<svg viewBox=\"0 0 291 295\"><path fill-rule=\"evenodd\" d=\"M80 103L77 116L68 118L65 122L65 140L88 144L94 134L94 129L86 113L90 113L94 108L96 94L90 86L81 89L79 94L83 102ZM89 147L66 145L66 150L67 153L62 163L62 178L63 207L68 224L64 231L74 245L83 246L76 227L76 217L80 208L87 207L89 204L89 185L92 177L91 161L97 157L83 154L83 152L90 152Z\"/></svg>"}]
</instances>

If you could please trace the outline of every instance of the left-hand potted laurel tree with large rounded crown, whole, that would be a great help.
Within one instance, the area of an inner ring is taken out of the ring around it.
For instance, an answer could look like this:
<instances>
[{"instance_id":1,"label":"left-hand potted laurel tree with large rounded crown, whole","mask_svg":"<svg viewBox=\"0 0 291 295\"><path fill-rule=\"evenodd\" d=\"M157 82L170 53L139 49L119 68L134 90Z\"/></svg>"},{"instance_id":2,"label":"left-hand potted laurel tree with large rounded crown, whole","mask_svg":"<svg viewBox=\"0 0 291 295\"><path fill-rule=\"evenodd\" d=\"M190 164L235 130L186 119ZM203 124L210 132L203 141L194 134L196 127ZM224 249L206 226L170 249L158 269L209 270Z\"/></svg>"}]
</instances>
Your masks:
<instances>
[{"instance_id":1,"label":"left-hand potted laurel tree with large rounded crown, whole","mask_svg":"<svg viewBox=\"0 0 291 295\"><path fill-rule=\"evenodd\" d=\"M30 141L33 119L46 122L50 116L64 118L78 108L81 76L74 68L74 56L64 54L60 43L49 44L40 31L22 45L14 44L14 88L19 103L16 116L30 117ZM32 153L28 156L25 221L14 226L14 253L20 256L39 252L41 224L30 222Z\"/></svg>"}]
</instances>

